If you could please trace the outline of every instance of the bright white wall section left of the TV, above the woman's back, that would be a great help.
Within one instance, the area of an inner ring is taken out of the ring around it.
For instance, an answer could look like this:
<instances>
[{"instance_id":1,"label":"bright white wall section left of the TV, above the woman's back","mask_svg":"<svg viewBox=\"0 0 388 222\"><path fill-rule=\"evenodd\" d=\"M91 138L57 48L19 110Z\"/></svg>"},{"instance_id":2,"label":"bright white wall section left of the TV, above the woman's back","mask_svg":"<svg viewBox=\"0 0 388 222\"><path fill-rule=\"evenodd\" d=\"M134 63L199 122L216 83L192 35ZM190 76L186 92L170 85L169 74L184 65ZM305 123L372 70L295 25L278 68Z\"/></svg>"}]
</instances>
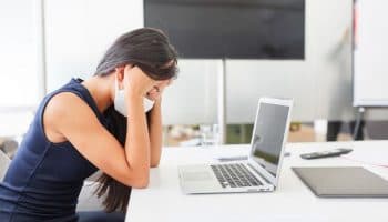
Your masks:
<instances>
[{"instance_id":1,"label":"bright white wall section left of the TV, above the woman's back","mask_svg":"<svg viewBox=\"0 0 388 222\"><path fill-rule=\"evenodd\" d=\"M143 27L140 0L45 0L48 91L88 78L120 34Z\"/></svg>"}]
</instances>

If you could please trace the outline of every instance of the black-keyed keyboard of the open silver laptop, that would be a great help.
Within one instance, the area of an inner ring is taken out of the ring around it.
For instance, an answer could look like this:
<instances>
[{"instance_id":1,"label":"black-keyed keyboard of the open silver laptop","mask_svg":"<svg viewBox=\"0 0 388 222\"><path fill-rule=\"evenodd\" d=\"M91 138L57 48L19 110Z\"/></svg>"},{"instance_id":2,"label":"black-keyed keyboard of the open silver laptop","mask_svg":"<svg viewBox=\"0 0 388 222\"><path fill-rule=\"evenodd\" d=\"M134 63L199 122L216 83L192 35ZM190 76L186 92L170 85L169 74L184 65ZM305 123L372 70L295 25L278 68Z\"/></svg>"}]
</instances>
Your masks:
<instances>
[{"instance_id":1,"label":"black-keyed keyboard of the open silver laptop","mask_svg":"<svg viewBox=\"0 0 388 222\"><path fill-rule=\"evenodd\" d=\"M262 182L243 163L215 164L211 168L223 188L262 185Z\"/></svg>"}]
</instances>

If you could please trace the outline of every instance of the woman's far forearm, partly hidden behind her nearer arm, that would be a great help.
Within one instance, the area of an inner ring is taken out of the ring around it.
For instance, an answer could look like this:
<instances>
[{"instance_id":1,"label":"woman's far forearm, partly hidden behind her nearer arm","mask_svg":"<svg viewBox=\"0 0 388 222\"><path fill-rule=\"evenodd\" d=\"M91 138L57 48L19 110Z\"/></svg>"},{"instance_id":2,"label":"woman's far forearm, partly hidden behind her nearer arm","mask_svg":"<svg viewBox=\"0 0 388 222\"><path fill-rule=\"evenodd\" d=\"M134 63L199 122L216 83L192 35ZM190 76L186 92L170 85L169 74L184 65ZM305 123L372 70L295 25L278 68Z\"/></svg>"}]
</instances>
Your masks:
<instances>
[{"instance_id":1,"label":"woman's far forearm, partly hidden behind her nearer arm","mask_svg":"<svg viewBox=\"0 0 388 222\"><path fill-rule=\"evenodd\" d=\"M162 154L162 99L155 100L154 107L147 113L150 143L151 143L151 168L156 168Z\"/></svg>"}]
</instances>

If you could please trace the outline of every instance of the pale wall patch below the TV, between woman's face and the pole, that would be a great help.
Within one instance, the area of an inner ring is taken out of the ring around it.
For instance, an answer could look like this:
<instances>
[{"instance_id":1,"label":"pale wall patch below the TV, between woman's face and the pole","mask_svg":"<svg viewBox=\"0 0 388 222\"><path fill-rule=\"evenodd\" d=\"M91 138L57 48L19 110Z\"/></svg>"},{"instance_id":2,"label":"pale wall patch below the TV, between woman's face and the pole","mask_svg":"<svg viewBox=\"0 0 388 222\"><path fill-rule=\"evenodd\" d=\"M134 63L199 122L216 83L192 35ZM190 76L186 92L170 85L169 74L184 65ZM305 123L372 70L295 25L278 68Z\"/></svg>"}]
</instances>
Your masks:
<instances>
[{"instance_id":1,"label":"pale wall patch below the TV, between woman's face and the pole","mask_svg":"<svg viewBox=\"0 0 388 222\"><path fill-rule=\"evenodd\" d=\"M217 62L180 60L181 72L163 98L166 124L212 123L217 120Z\"/></svg>"}]
</instances>

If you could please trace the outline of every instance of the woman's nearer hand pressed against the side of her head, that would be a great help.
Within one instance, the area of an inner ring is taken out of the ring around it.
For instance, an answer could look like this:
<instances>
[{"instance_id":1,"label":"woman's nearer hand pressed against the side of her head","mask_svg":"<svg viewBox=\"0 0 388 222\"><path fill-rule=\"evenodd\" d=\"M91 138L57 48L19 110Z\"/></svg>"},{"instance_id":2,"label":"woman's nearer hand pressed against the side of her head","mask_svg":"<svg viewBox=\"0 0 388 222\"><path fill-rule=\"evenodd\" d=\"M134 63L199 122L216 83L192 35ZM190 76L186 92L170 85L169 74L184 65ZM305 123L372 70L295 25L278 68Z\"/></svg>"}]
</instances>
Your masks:
<instances>
[{"instance_id":1,"label":"woman's nearer hand pressed against the side of her head","mask_svg":"<svg viewBox=\"0 0 388 222\"><path fill-rule=\"evenodd\" d=\"M144 97L154 88L156 81L146 75L139 67L127 64L124 68L123 83L127 94Z\"/></svg>"}]
</instances>

